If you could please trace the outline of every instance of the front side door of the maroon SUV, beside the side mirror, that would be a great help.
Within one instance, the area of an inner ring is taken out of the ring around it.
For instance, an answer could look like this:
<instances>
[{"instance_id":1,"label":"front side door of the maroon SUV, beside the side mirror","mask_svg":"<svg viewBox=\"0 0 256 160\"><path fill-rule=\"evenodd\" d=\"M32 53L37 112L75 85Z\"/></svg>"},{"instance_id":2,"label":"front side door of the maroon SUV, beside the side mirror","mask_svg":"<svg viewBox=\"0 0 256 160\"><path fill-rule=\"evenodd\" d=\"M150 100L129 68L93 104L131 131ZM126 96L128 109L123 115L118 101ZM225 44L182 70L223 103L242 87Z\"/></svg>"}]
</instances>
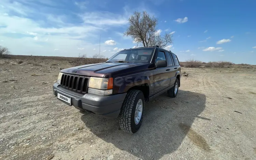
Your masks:
<instances>
[{"instance_id":1,"label":"front side door of the maroon SUV, beside the side mirror","mask_svg":"<svg viewBox=\"0 0 256 160\"><path fill-rule=\"evenodd\" d=\"M159 49L155 63L158 60L167 60L165 51ZM164 90L170 85L169 79L169 67L156 68L153 70L153 84L154 84L154 94Z\"/></svg>"}]
</instances>

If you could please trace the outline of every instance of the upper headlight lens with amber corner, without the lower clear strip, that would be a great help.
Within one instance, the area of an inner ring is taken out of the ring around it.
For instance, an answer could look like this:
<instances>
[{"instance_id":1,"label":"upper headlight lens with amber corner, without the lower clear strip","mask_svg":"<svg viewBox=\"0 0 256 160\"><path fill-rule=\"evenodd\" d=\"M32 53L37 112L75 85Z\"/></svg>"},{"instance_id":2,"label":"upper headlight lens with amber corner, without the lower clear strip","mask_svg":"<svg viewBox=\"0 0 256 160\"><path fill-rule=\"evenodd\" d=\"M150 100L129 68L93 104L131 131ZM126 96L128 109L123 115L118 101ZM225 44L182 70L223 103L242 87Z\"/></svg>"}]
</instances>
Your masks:
<instances>
[{"instance_id":1,"label":"upper headlight lens with amber corner, without the lower clear strip","mask_svg":"<svg viewBox=\"0 0 256 160\"><path fill-rule=\"evenodd\" d=\"M99 90L113 89L113 78L90 77L89 88Z\"/></svg>"}]
</instances>

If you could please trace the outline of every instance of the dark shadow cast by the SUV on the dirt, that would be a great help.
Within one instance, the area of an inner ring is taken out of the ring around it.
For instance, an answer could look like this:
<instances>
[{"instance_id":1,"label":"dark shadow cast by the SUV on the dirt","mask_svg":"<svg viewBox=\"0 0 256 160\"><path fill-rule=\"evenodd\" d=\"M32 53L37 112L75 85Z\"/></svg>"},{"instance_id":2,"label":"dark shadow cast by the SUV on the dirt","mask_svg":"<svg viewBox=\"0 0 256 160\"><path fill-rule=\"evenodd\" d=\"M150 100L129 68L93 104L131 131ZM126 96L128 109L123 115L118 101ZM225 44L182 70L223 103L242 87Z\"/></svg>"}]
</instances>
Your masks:
<instances>
[{"instance_id":1,"label":"dark shadow cast by the SUV on the dirt","mask_svg":"<svg viewBox=\"0 0 256 160\"><path fill-rule=\"evenodd\" d=\"M211 120L199 116L205 108L205 101L204 94L190 91L179 90L175 98L169 98L164 93L146 103L143 123L134 134L120 130L118 118L105 119L83 114L81 119L91 132L105 142L138 158L160 159L177 150L186 135L199 148L208 150L206 141L191 128L195 118Z\"/></svg>"}]
</instances>

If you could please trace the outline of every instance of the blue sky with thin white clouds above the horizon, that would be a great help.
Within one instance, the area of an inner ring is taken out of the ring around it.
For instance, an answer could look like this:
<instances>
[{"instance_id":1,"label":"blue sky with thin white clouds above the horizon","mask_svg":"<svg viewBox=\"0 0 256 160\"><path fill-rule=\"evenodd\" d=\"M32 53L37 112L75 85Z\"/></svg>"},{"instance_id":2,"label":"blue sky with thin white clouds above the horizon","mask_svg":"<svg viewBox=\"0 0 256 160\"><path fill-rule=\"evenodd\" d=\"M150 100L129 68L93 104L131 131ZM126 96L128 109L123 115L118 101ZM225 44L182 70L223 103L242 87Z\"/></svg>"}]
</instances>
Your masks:
<instances>
[{"instance_id":1,"label":"blue sky with thin white clouds above the horizon","mask_svg":"<svg viewBox=\"0 0 256 160\"><path fill-rule=\"evenodd\" d=\"M256 64L256 1L233 0L1 0L0 45L12 54L110 58L132 48L128 17L147 11L180 61ZM99 35L101 44L99 45Z\"/></svg>"}]
</instances>

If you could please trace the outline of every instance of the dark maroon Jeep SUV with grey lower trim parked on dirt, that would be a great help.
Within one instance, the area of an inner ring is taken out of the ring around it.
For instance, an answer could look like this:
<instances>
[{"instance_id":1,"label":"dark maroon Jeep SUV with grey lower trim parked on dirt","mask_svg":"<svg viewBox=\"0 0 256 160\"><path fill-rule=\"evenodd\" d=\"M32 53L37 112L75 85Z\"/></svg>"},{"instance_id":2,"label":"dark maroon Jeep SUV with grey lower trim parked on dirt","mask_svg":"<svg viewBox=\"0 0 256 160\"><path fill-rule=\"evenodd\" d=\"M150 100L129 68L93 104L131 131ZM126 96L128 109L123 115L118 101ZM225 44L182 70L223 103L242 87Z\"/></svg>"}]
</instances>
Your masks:
<instances>
[{"instance_id":1,"label":"dark maroon Jeep SUV with grey lower trim parked on dirt","mask_svg":"<svg viewBox=\"0 0 256 160\"><path fill-rule=\"evenodd\" d=\"M145 101L168 92L176 97L181 78L177 56L153 47L119 51L104 63L63 69L53 93L77 109L107 118L119 117L122 130L141 126Z\"/></svg>"}]
</instances>

